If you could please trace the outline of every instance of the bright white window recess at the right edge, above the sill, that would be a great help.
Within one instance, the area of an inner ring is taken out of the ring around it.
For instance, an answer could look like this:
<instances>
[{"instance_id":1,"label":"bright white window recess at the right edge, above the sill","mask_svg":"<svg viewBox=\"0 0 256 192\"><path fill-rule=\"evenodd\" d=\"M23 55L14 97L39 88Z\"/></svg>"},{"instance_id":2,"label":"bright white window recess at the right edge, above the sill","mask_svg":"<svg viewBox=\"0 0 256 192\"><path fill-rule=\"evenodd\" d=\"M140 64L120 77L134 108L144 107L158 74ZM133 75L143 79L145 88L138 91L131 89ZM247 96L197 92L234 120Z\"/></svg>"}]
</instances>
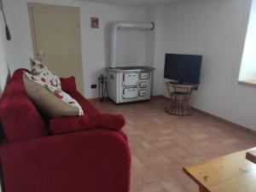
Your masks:
<instances>
[{"instance_id":1,"label":"bright white window recess at the right edge, above the sill","mask_svg":"<svg viewBox=\"0 0 256 192\"><path fill-rule=\"evenodd\" d=\"M247 28L247 38L243 49L239 79L256 79L256 0L253 0Z\"/></svg>"}]
</instances>

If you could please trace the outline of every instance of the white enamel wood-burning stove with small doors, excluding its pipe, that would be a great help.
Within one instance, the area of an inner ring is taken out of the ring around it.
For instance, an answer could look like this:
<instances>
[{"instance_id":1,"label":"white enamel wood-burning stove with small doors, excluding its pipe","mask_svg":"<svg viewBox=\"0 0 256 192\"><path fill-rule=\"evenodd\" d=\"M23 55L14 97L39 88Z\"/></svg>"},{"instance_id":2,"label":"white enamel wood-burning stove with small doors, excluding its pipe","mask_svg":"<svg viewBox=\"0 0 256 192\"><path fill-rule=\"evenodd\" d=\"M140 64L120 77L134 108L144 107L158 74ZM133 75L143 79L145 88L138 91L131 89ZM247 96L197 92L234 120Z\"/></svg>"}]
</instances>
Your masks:
<instances>
[{"instance_id":1,"label":"white enamel wood-burning stove with small doors, excluding its pipe","mask_svg":"<svg viewBox=\"0 0 256 192\"><path fill-rule=\"evenodd\" d=\"M152 67L114 67L108 71L108 96L113 102L150 100Z\"/></svg>"}]
</instances>

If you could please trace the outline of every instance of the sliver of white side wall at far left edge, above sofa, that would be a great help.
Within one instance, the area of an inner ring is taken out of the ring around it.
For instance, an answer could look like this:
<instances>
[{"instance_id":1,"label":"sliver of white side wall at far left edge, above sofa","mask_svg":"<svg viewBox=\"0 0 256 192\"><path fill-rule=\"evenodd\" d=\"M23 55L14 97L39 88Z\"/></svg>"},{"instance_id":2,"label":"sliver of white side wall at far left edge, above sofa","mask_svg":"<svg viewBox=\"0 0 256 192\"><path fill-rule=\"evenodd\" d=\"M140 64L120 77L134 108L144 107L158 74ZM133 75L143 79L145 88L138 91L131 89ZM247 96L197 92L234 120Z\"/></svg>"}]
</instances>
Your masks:
<instances>
[{"instance_id":1,"label":"sliver of white side wall at far left edge, above sofa","mask_svg":"<svg viewBox=\"0 0 256 192\"><path fill-rule=\"evenodd\" d=\"M4 87L7 84L7 80L9 77L9 70L5 58L5 44L5 25L3 21L3 13L2 11L0 11L0 97L3 93Z\"/></svg>"}]
</instances>

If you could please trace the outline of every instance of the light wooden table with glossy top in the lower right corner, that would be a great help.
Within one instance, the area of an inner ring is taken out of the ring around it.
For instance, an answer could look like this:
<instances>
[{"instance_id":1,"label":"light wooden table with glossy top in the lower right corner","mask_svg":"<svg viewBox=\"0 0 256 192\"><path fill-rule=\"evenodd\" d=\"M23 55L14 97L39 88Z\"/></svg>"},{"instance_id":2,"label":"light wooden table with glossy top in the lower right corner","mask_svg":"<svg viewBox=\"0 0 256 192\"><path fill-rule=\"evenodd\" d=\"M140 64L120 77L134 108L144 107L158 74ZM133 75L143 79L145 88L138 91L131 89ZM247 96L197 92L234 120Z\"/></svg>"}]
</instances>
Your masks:
<instances>
[{"instance_id":1,"label":"light wooden table with glossy top in the lower right corner","mask_svg":"<svg viewBox=\"0 0 256 192\"><path fill-rule=\"evenodd\" d=\"M255 192L256 165L246 159L250 148L183 167L201 192Z\"/></svg>"}]
</instances>

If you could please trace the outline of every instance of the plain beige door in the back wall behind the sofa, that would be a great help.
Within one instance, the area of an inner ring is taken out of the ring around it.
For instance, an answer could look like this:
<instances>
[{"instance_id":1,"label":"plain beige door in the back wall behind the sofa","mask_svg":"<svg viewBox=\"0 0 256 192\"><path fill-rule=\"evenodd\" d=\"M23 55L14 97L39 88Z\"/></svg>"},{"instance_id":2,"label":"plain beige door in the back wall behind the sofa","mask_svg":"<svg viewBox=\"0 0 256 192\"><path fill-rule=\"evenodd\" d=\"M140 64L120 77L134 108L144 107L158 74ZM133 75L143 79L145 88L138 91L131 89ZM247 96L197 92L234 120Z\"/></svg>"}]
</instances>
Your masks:
<instances>
[{"instance_id":1,"label":"plain beige door in the back wall behind the sofa","mask_svg":"<svg viewBox=\"0 0 256 192\"><path fill-rule=\"evenodd\" d=\"M83 93L79 8L28 3L34 55L60 77L75 76Z\"/></svg>"}]
</instances>

